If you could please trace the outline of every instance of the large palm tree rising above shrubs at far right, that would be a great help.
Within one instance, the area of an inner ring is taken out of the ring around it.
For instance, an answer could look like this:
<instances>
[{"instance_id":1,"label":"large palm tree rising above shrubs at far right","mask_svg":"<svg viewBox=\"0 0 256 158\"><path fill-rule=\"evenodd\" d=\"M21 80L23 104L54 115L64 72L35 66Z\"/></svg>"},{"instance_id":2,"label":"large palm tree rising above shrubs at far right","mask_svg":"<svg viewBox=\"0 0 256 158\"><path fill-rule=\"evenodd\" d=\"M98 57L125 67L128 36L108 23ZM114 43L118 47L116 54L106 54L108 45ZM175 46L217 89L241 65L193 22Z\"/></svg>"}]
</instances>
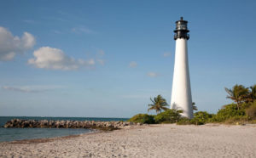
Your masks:
<instances>
[{"instance_id":1,"label":"large palm tree rising above shrubs at far right","mask_svg":"<svg viewBox=\"0 0 256 158\"><path fill-rule=\"evenodd\" d=\"M237 104L237 109L240 109L241 103L247 101L249 96L249 89L242 85L235 85L232 89L225 87L225 91L229 94L227 99L232 99Z\"/></svg>"}]
</instances>

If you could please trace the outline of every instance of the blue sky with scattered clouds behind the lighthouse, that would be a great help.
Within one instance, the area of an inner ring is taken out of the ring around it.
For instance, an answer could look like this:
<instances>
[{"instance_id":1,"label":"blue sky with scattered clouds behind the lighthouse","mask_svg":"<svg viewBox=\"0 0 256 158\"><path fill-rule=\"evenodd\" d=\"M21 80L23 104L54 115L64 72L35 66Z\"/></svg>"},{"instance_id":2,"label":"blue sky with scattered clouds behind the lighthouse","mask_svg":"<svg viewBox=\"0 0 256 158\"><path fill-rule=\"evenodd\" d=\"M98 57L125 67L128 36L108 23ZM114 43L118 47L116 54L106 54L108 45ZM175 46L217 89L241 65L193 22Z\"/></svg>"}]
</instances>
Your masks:
<instances>
[{"instance_id":1,"label":"blue sky with scattered clouds behind the lighthouse","mask_svg":"<svg viewBox=\"0 0 256 158\"><path fill-rule=\"evenodd\" d=\"M192 99L256 84L256 1L13 1L0 5L0 116L131 117L171 102L173 30L189 24ZM153 114L153 113L152 113Z\"/></svg>"}]
</instances>

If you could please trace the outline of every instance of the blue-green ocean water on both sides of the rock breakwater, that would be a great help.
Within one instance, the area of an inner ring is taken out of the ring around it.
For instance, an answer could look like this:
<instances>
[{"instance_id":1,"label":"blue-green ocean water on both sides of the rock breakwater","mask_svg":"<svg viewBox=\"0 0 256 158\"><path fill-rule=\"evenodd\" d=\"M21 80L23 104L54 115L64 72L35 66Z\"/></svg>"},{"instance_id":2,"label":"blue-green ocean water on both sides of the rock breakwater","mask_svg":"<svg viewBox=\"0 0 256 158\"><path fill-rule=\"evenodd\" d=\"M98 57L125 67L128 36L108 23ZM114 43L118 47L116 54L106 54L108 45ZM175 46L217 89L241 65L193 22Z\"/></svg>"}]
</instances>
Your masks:
<instances>
[{"instance_id":1,"label":"blue-green ocean water on both sides of the rock breakwater","mask_svg":"<svg viewBox=\"0 0 256 158\"><path fill-rule=\"evenodd\" d=\"M31 117L31 116L0 116L0 142L9 142L33 138L54 138L81 133L93 133L94 130L84 128L4 128L6 121L22 120L69 120L69 121L127 121L128 118L102 117Z\"/></svg>"}]
</instances>

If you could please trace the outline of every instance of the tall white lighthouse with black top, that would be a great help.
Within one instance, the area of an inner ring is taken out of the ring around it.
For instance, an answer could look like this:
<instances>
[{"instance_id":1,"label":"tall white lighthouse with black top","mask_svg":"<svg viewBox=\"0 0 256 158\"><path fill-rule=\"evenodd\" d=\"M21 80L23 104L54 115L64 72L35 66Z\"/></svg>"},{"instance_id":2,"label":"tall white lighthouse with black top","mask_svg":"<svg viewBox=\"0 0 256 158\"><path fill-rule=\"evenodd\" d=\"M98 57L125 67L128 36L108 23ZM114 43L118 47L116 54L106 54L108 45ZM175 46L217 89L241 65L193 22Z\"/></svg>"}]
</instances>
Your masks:
<instances>
[{"instance_id":1,"label":"tall white lighthouse with black top","mask_svg":"<svg viewBox=\"0 0 256 158\"><path fill-rule=\"evenodd\" d=\"M193 118L192 96L189 79L188 21L176 21L174 40L176 41L175 61L172 80L171 109L183 110L184 117Z\"/></svg>"}]
</instances>

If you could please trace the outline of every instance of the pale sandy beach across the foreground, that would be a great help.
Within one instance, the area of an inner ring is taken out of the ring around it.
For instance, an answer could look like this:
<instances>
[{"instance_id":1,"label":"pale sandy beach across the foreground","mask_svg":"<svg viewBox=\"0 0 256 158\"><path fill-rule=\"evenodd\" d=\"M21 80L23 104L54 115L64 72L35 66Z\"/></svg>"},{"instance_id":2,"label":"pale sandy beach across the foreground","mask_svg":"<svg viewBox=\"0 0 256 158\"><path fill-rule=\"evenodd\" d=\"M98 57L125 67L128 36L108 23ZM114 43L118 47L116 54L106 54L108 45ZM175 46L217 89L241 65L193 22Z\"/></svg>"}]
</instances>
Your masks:
<instances>
[{"instance_id":1,"label":"pale sandy beach across the foreground","mask_svg":"<svg viewBox=\"0 0 256 158\"><path fill-rule=\"evenodd\" d=\"M249 125L154 125L50 140L1 143L0 157L256 157Z\"/></svg>"}]
</instances>

